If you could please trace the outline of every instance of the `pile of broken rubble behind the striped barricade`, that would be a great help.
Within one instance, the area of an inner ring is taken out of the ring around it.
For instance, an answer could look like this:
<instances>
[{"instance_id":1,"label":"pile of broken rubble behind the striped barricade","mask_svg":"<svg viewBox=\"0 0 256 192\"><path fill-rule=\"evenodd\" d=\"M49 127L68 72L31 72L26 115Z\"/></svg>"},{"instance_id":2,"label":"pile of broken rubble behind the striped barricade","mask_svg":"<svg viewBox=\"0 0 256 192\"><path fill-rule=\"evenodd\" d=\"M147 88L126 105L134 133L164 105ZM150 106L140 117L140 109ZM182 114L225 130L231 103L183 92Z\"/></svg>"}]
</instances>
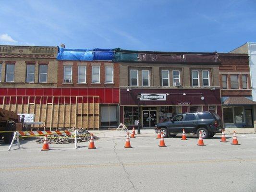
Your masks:
<instances>
[{"instance_id":1,"label":"pile of broken rubble behind the striped barricade","mask_svg":"<svg viewBox=\"0 0 256 192\"><path fill-rule=\"evenodd\" d=\"M73 132L75 130L75 128L71 128L71 129L61 129L58 131L69 131L69 132ZM77 130L77 142L86 142L86 141L90 141L91 139L91 135L90 133L83 129L76 129ZM94 135L94 140L98 140L99 137ZM44 137L38 138L36 140L37 144L43 144L44 143ZM49 144L71 144L74 143L74 134L72 134L71 136L68 135L48 135L48 143Z\"/></svg>"}]
</instances>

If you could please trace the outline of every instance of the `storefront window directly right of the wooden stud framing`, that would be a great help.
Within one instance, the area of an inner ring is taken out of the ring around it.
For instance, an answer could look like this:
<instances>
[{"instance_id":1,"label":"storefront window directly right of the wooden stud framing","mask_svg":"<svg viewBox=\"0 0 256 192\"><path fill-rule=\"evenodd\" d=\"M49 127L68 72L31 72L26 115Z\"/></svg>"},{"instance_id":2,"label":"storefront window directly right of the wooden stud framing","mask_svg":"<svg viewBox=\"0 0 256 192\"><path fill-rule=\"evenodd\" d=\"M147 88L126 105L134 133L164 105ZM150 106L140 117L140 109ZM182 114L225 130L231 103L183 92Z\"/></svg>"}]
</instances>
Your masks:
<instances>
[{"instance_id":1,"label":"storefront window directly right of the wooden stud framing","mask_svg":"<svg viewBox=\"0 0 256 192\"><path fill-rule=\"evenodd\" d=\"M117 107L101 106L100 107L101 126L117 126Z\"/></svg>"}]
</instances>

